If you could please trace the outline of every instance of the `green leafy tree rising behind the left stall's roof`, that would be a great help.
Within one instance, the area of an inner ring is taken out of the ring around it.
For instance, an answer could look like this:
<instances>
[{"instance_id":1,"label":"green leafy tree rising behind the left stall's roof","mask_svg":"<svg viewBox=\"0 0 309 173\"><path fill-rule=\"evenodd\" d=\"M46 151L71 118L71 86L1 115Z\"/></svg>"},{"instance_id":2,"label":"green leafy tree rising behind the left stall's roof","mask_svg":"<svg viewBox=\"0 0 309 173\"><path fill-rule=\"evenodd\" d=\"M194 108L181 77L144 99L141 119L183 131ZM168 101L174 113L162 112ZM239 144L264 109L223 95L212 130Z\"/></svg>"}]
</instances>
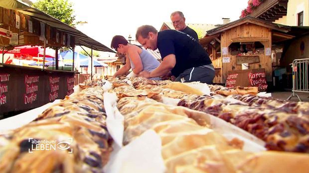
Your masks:
<instances>
[{"instance_id":1,"label":"green leafy tree rising behind the left stall's roof","mask_svg":"<svg viewBox=\"0 0 309 173\"><path fill-rule=\"evenodd\" d=\"M78 23L74 23L73 5L68 0L38 0L32 5L68 25L74 26Z\"/></svg>"}]
</instances>

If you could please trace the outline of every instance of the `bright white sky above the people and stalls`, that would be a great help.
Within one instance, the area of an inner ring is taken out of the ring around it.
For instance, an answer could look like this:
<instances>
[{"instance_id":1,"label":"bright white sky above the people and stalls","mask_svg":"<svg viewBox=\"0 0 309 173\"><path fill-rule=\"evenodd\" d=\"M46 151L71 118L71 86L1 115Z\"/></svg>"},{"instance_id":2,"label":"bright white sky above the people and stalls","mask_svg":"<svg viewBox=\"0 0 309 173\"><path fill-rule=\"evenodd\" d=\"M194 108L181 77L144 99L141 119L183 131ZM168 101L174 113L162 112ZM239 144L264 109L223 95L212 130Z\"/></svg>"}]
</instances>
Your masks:
<instances>
[{"instance_id":1,"label":"bright white sky above the people and stalls","mask_svg":"<svg viewBox=\"0 0 309 173\"><path fill-rule=\"evenodd\" d=\"M31 0L36 1L36 0ZM110 47L114 35L131 35L139 26L149 24L157 30L170 22L170 13L182 11L186 23L222 24L222 17L239 19L248 0L69 0L76 21L86 21L76 28Z\"/></svg>"}]
</instances>

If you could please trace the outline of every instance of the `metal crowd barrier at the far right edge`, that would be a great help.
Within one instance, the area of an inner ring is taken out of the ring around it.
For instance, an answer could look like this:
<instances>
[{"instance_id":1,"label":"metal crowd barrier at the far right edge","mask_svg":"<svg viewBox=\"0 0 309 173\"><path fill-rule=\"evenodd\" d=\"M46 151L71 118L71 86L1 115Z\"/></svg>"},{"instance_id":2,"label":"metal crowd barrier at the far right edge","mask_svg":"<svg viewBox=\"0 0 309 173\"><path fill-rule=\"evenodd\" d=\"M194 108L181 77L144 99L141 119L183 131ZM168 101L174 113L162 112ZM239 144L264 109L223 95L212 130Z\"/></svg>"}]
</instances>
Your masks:
<instances>
[{"instance_id":1,"label":"metal crowd barrier at the far right edge","mask_svg":"<svg viewBox=\"0 0 309 173\"><path fill-rule=\"evenodd\" d=\"M306 59L296 59L293 61L293 89L291 96L287 99L290 100L292 97L296 96L300 101L302 99L295 92L308 92L309 93L309 82L308 82L308 68L309 68L309 58Z\"/></svg>"}]
</instances>

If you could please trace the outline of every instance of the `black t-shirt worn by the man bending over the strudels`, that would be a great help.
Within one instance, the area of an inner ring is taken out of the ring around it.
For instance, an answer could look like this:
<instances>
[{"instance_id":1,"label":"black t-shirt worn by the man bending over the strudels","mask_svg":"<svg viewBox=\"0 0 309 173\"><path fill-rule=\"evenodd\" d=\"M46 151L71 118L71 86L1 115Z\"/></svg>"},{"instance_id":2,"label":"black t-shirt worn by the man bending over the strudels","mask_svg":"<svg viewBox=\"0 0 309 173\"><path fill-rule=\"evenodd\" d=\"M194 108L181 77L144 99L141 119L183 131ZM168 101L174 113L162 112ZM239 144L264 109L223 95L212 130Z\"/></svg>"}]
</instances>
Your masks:
<instances>
[{"instance_id":1,"label":"black t-shirt worn by the man bending over the strudels","mask_svg":"<svg viewBox=\"0 0 309 173\"><path fill-rule=\"evenodd\" d=\"M186 69L212 63L198 41L176 30L167 29L158 32L157 48L162 60L167 55L175 55L176 64L171 70L172 75L175 77L178 77Z\"/></svg>"}]
</instances>

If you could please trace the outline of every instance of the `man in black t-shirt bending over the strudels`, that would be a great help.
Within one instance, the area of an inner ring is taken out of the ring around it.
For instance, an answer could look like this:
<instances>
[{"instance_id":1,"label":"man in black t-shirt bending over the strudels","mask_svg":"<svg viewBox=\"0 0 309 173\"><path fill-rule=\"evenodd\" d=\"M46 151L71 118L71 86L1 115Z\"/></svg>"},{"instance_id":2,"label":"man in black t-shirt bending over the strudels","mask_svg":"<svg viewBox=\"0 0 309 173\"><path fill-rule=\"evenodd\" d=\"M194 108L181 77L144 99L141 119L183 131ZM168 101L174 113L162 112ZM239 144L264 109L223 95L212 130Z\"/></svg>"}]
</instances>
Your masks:
<instances>
[{"instance_id":1,"label":"man in black t-shirt bending over the strudels","mask_svg":"<svg viewBox=\"0 0 309 173\"><path fill-rule=\"evenodd\" d=\"M176 30L157 30L150 25L138 28L136 39L145 49L158 48L162 62L151 73L144 71L140 76L155 78L175 76L176 81L212 84L215 71L212 62L197 40Z\"/></svg>"}]
</instances>

